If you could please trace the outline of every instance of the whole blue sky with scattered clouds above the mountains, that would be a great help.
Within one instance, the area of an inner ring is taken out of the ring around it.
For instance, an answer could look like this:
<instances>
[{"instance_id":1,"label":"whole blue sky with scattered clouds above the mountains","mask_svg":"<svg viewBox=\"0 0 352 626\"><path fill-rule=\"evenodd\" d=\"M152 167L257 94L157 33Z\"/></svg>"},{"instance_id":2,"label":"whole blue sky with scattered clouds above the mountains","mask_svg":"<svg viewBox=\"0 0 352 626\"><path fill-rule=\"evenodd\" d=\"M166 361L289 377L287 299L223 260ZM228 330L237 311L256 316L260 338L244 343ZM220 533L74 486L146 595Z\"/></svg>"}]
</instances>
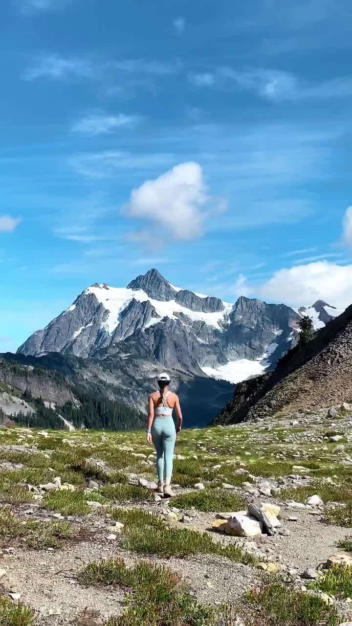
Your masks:
<instances>
[{"instance_id":1,"label":"whole blue sky with scattered clouds above the mountains","mask_svg":"<svg viewBox=\"0 0 352 626\"><path fill-rule=\"evenodd\" d=\"M348 305L351 26L349 0L3 0L0 351L150 267Z\"/></svg>"}]
</instances>

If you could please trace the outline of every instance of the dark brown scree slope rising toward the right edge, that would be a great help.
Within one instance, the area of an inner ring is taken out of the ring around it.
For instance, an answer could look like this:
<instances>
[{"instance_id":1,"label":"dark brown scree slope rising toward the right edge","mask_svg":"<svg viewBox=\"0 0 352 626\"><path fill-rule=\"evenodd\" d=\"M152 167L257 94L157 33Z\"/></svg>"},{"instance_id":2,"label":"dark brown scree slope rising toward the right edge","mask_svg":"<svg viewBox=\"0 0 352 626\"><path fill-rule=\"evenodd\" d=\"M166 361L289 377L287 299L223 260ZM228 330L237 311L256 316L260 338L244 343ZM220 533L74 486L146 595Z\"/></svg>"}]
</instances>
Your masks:
<instances>
[{"instance_id":1,"label":"dark brown scree slope rising toward the right edge","mask_svg":"<svg viewBox=\"0 0 352 626\"><path fill-rule=\"evenodd\" d=\"M352 305L274 372L238 384L234 398L215 423L261 419L283 410L316 409L338 404L341 398L351 403L351 371Z\"/></svg>"}]
</instances>

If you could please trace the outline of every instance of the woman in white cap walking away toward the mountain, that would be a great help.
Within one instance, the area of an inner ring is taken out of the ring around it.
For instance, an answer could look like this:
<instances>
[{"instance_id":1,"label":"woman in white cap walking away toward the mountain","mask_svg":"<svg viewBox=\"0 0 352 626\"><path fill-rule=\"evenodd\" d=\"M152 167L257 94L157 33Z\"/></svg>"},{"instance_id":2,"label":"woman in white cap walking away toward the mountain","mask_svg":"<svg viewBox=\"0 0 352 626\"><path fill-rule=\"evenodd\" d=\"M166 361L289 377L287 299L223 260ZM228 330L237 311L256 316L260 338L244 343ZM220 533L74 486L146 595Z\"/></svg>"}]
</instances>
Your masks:
<instances>
[{"instance_id":1,"label":"woman in white cap walking away toward the mountain","mask_svg":"<svg viewBox=\"0 0 352 626\"><path fill-rule=\"evenodd\" d=\"M157 451L158 489L160 495L171 497L174 493L170 483L172 478L173 449L176 436L181 430L182 413L179 396L168 390L170 376L160 374L158 386L160 393L154 391L148 398L148 428L147 441L154 444ZM172 411L177 415L177 428L172 419ZM165 485L164 485L165 479Z\"/></svg>"}]
</instances>

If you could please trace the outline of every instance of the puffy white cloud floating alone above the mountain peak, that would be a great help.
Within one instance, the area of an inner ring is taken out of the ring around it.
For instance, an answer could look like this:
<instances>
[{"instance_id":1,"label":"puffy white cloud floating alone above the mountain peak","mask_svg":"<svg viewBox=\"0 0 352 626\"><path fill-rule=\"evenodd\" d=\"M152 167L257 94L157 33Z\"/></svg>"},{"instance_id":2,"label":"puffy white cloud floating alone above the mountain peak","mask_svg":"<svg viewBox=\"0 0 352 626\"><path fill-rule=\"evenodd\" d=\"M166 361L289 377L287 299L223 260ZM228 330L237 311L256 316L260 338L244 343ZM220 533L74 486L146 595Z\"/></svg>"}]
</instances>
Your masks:
<instances>
[{"instance_id":1,"label":"puffy white cloud floating alone above the mountain peak","mask_svg":"<svg viewBox=\"0 0 352 626\"><path fill-rule=\"evenodd\" d=\"M210 200L200 165L182 163L133 189L125 213L148 220L157 232L166 228L169 237L187 241L202 235ZM164 237L163 232L161 243Z\"/></svg>"}]
</instances>

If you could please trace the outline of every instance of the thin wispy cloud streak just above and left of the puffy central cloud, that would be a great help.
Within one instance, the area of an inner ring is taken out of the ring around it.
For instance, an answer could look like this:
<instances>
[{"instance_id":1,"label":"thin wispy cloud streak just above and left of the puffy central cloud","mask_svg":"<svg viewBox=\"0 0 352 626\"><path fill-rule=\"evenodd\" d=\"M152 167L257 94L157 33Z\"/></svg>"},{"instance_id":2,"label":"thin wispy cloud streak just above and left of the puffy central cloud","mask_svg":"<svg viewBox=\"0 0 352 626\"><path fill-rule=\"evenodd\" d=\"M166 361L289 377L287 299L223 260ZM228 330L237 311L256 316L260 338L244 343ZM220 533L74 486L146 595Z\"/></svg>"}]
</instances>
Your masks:
<instances>
[{"instance_id":1,"label":"thin wispy cloud streak just above and left of the puffy central cloud","mask_svg":"<svg viewBox=\"0 0 352 626\"><path fill-rule=\"evenodd\" d=\"M70 159L70 165L77 173L88 178L111 178L126 170L151 170L165 167L174 160L168 153L83 152Z\"/></svg>"}]
</instances>

